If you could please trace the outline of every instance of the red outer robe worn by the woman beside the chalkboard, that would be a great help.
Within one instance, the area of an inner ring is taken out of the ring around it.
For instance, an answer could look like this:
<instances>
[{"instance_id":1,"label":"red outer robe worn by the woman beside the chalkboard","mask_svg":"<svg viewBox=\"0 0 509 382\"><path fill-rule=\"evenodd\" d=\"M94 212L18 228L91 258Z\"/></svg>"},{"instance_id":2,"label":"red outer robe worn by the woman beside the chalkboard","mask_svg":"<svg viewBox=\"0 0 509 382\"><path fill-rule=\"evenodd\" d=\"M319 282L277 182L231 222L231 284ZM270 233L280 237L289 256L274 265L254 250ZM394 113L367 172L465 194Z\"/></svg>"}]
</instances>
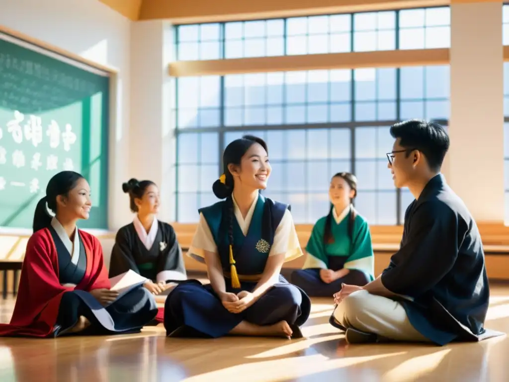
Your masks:
<instances>
[{"instance_id":1,"label":"red outer robe worn by the woman beside the chalkboard","mask_svg":"<svg viewBox=\"0 0 509 382\"><path fill-rule=\"evenodd\" d=\"M0 336L46 337L53 332L64 292L111 287L101 243L87 232L79 230L79 235L87 254L87 269L76 287L60 285L58 254L49 230L45 228L31 236L26 244L14 313L9 324L0 324Z\"/></svg>"}]
</instances>

